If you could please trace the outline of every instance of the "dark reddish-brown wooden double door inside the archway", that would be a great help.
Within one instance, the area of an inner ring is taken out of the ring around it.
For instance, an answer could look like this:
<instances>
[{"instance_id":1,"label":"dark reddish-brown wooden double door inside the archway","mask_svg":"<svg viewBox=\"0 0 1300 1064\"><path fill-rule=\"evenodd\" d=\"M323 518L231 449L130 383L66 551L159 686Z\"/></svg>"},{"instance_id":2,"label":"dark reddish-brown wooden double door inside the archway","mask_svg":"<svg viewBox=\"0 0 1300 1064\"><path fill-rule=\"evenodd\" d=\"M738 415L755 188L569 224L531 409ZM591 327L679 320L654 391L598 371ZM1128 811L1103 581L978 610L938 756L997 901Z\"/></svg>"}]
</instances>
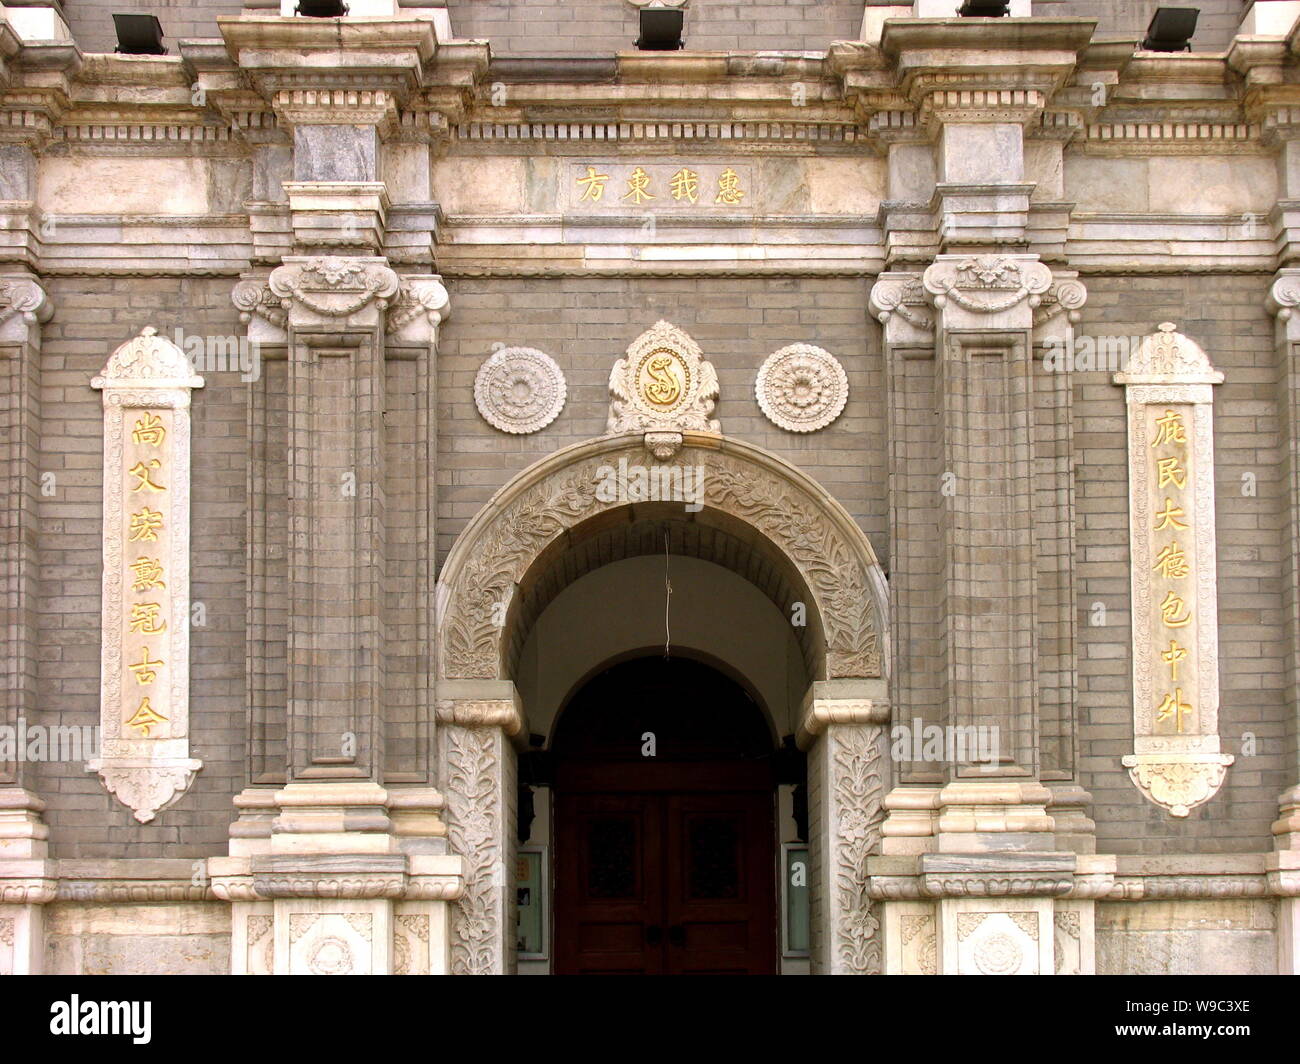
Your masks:
<instances>
[{"instance_id":1,"label":"dark reddish-brown wooden double door inside the archway","mask_svg":"<svg viewBox=\"0 0 1300 1064\"><path fill-rule=\"evenodd\" d=\"M555 970L775 973L772 806L772 791L558 792Z\"/></svg>"}]
</instances>

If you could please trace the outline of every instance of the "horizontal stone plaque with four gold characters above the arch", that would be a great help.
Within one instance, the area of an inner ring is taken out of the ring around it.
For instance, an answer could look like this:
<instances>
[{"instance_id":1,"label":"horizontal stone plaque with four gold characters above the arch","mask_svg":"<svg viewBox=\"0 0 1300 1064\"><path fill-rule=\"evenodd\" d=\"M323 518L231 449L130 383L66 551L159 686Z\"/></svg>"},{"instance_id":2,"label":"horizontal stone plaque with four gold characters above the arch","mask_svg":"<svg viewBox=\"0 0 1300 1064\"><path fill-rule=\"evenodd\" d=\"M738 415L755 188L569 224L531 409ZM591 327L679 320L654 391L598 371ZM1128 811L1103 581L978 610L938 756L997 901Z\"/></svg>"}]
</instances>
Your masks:
<instances>
[{"instance_id":1,"label":"horizontal stone plaque with four gold characters above the arch","mask_svg":"<svg viewBox=\"0 0 1300 1064\"><path fill-rule=\"evenodd\" d=\"M563 202L606 213L751 211L750 166L727 163L572 163Z\"/></svg>"}]
</instances>

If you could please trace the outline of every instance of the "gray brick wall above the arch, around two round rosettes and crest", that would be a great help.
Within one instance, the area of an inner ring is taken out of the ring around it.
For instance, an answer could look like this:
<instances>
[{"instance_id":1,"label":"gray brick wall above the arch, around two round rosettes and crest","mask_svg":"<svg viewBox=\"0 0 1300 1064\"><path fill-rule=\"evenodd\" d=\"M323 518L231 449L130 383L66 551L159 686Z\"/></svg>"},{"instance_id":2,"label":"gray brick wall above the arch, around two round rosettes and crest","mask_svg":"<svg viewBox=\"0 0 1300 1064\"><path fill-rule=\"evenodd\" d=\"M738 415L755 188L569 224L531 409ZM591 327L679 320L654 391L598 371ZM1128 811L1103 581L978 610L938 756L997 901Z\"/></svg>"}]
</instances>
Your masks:
<instances>
[{"instance_id":1,"label":"gray brick wall above the arch, around two round rosettes and crest","mask_svg":"<svg viewBox=\"0 0 1300 1064\"><path fill-rule=\"evenodd\" d=\"M610 369L660 317L685 329L718 369L723 431L789 459L859 522L888 565L884 367L866 310L867 278L458 280L438 352L438 561L511 476L559 447L604 432ZM772 351L826 347L849 375L849 405L829 428L796 436L754 401ZM508 436L474 407L474 373L493 343L540 347L568 382L560 416Z\"/></svg>"}]
</instances>

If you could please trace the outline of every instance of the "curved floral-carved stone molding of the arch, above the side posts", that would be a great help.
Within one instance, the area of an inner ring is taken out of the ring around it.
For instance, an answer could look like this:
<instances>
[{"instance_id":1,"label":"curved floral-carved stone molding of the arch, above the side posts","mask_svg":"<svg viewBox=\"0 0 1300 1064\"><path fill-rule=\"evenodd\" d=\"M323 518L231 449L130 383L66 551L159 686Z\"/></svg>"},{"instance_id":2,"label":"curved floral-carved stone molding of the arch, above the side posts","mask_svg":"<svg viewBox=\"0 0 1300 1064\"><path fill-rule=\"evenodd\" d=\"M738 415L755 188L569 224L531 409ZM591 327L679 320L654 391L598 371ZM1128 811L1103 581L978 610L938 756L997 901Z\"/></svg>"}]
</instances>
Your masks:
<instances>
[{"instance_id":1,"label":"curved floral-carved stone molding of the arch, above the side posts","mask_svg":"<svg viewBox=\"0 0 1300 1064\"><path fill-rule=\"evenodd\" d=\"M508 678L504 618L516 587L571 529L628 505L601 490L620 459L654 464L640 434L576 444L519 473L465 527L438 579L442 679ZM715 433L684 433L673 464L697 471L706 514L757 532L809 589L824 640L823 675L881 676L889 659L885 579L848 511L784 459Z\"/></svg>"}]
</instances>

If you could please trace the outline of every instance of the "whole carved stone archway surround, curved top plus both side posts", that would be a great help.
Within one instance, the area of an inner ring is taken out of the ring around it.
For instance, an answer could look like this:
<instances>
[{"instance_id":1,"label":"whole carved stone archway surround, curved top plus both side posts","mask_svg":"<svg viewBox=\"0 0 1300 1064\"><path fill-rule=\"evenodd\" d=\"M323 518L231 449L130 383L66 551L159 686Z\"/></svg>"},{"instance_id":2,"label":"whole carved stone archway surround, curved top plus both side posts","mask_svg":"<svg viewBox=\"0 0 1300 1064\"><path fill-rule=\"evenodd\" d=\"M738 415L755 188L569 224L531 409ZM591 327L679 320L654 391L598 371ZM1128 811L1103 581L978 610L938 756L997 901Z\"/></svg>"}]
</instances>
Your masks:
<instances>
[{"instance_id":1,"label":"whole carved stone archway surround, curved top plus both side posts","mask_svg":"<svg viewBox=\"0 0 1300 1064\"><path fill-rule=\"evenodd\" d=\"M815 678L801 709L809 751L814 970L880 969L866 857L878 849L888 721L888 591L866 535L820 485L776 455L711 432L685 432L671 463L640 434L566 447L503 486L465 527L438 580L439 786L448 836L465 858L465 894L452 916L452 970L512 968L515 752L524 706L512 683L519 589L584 527L638 497L611 471L689 468L650 490L688 483L696 519L744 529L779 557L809 601L805 646ZM780 604L779 604L780 605Z\"/></svg>"}]
</instances>

